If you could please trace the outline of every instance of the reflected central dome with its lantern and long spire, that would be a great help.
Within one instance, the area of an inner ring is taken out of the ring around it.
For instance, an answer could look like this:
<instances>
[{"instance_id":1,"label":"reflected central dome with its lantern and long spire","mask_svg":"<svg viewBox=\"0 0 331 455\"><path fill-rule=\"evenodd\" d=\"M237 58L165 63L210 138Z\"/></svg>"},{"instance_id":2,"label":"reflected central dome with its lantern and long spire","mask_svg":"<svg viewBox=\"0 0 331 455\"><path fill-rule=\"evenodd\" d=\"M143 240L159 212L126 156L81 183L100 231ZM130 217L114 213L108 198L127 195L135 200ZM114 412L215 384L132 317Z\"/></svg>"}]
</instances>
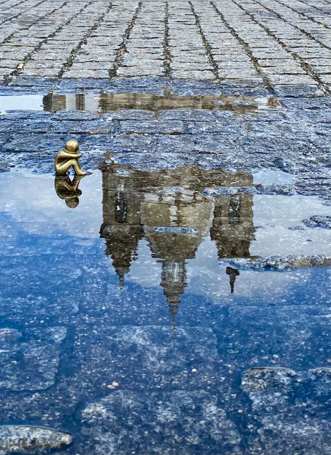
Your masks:
<instances>
[{"instance_id":1,"label":"reflected central dome with its lantern and long spire","mask_svg":"<svg viewBox=\"0 0 331 455\"><path fill-rule=\"evenodd\" d=\"M195 257L212 222L212 199L184 188L145 193L141 208L144 237L153 258L162 262L161 286L175 327L180 296L186 287L186 262Z\"/></svg>"}]
</instances>

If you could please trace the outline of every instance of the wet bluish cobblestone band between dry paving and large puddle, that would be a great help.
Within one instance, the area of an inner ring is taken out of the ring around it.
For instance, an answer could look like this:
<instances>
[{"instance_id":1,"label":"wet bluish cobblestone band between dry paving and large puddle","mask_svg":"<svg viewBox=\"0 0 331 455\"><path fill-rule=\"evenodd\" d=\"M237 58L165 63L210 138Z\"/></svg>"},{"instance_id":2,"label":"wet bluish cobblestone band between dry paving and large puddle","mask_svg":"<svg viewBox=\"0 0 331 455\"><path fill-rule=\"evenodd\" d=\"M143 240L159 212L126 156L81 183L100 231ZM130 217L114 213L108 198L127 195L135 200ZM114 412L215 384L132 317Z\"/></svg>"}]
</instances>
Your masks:
<instances>
[{"instance_id":1,"label":"wet bluish cobblestone band between dry paving and large puddle","mask_svg":"<svg viewBox=\"0 0 331 455\"><path fill-rule=\"evenodd\" d=\"M105 158L147 170L274 169L294 174L296 187L272 182L253 192L330 197L329 97L141 90L0 96L0 169L51 172L54 153L76 138L91 170Z\"/></svg>"}]
</instances>

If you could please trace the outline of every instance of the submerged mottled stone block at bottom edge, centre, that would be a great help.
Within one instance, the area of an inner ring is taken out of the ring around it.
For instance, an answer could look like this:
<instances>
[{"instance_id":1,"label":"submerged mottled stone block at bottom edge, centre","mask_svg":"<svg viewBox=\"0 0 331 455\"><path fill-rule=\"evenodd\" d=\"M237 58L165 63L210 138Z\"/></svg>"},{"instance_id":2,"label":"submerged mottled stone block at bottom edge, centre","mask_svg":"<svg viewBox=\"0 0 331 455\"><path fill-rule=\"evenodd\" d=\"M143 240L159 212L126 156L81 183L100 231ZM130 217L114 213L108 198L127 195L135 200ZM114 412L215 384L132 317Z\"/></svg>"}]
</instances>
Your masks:
<instances>
[{"instance_id":1,"label":"submerged mottled stone block at bottom edge, centre","mask_svg":"<svg viewBox=\"0 0 331 455\"><path fill-rule=\"evenodd\" d=\"M121 417L110 417L119 408ZM132 416L134 433L128 425ZM119 390L89 403L81 418L86 421L82 432L90 442L78 450L87 455L125 454L132 450L133 440L135 450L144 453L173 453L178 444L188 454L197 446L205 453L242 453L236 426L217 405L216 396L204 390L150 394ZM166 441L164 449L158 442L160 432Z\"/></svg>"}]
</instances>

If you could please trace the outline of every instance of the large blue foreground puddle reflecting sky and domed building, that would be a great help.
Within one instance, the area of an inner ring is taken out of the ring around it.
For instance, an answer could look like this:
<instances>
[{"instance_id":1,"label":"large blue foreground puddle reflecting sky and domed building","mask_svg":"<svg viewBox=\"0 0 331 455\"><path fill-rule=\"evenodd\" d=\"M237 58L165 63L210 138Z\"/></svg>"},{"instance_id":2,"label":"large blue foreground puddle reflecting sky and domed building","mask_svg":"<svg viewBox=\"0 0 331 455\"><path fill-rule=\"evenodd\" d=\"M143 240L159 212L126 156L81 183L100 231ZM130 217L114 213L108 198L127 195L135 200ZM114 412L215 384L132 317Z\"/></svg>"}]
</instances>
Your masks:
<instances>
[{"instance_id":1,"label":"large blue foreground puddle reflecting sky and domed building","mask_svg":"<svg viewBox=\"0 0 331 455\"><path fill-rule=\"evenodd\" d=\"M3 421L24 415L21 423L70 431L73 443L61 453L226 453L227 436L212 436L216 419L232 435L232 453L244 453L237 441L259 437L268 407L247 411L242 373L266 365L306 371L331 357L330 267L257 272L224 262L328 255L331 229L302 220L331 217L331 207L299 195L203 194L256 179L279 183L278 174L114 163L74 182L0 174L0 314L13 335L0 338ZM280 412L275 400L272 415ZM322 405L310 400L315 411ZM286 403L282 412L296 415ZM176 437L160 440L167 406ZM330 408L323 412L325 420Z\"/></svg>"}]
</instances>

